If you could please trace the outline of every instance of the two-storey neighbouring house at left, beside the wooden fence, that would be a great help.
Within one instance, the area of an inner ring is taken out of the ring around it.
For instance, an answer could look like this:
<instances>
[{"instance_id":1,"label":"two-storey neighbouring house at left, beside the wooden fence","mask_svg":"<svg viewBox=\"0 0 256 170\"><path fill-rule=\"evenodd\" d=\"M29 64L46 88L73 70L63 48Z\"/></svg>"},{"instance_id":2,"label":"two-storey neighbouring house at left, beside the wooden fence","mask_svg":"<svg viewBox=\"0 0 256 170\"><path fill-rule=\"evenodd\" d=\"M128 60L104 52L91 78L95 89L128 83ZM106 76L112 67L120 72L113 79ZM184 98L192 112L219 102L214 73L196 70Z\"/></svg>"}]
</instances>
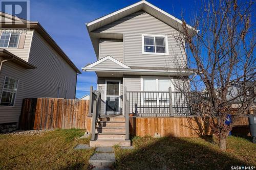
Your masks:
<instances>
[{"instance_id":1,"label":"two-storey neighbouring house at left, beside the wooden fence","mask_svg":"<svg viewBox=\"0 0 256 170\"><path fill-rule=\"evenodd\" d=\"M0 17L0 125L15 127L24 98L75 99L80 71L45 29L2 12Z\"/></svg>"}]
</instances>

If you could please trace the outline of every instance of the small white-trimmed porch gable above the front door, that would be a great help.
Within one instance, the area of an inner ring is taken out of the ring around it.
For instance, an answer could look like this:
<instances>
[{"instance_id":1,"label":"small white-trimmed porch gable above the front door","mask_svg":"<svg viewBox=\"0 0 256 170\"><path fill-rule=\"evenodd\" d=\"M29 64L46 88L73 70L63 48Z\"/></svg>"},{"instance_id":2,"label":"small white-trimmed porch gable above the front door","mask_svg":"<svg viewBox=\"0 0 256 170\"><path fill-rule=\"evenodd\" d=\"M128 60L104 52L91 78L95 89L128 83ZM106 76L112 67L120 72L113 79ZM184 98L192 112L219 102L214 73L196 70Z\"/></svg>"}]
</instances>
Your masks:
<instances>
[{"instance_id":1,"label":"small white-trimmed porch gable above the front door","mask_svg":"<svg viewBox=\"0 0 256 170\"><path fill-rule=\"evenodd\" d=\"M106 57L104 57L104 58L102 58L102 59L100 59L100 60L98 60L98 61L96 61L96 62L94 62L94 63L92 63L92 64L89 64L89 65L83 67L82 69L83 69L83 70L86 70L87 68L93 68L93 67L96 68L99 64L104 63L104 62L106 62L106 61L108 61L108 60L110 60L111 62L113 62L114 64L116 64L116 66L113 65L113 68L114 68L114 67L118 67L118 68L127 68L127 69L131 69L131 67L129 67L129 66L123 64L122 62L120 62L120 61L114 59L114 58L111 57L111 56L106 56ZM108 68L110 68L110 67L108 67Z\"/></svg>"}]
</instances>

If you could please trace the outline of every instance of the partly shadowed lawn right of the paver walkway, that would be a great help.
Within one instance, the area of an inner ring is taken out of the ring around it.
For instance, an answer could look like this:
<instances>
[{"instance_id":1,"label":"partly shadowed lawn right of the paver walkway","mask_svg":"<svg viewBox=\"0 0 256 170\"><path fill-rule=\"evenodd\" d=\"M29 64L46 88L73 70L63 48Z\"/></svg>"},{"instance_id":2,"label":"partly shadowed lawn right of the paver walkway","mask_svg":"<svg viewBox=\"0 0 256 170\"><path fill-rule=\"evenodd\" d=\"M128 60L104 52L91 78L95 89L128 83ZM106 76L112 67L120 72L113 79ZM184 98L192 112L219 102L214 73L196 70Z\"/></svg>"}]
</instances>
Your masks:
<instances>
[{"instance_id":1,"label":"partly shadowed lawn right of the paver walkway","mask_svg":"<svg viewBox=\"0 0 256 170\"><path fill-rule=\"evenodd\" d=\"M230 136L227 143L227 151L221 152L214 140L135 137L135 150L115 147L115 166L116 169L231 169L235 165L256 166L256 145L249 139Z\"/></svg>"}]
</instances>

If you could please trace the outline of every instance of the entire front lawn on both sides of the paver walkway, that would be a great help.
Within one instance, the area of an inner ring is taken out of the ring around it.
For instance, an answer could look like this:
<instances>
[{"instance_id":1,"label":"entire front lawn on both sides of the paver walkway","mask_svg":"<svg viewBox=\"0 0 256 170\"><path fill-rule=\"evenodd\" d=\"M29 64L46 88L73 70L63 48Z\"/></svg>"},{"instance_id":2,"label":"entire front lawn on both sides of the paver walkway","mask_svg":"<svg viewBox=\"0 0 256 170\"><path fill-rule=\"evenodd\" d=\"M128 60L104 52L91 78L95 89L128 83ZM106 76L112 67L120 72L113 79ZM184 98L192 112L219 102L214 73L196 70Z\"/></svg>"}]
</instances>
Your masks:
<instances>
[{"instance_id":1,"label":"entire front lawn on both sides of the paver walkway","mask_svg":"<svg viewBox=\"0 0 256 170\"><path fill-rule=\"evenodd\" d=\"M90 169L95 152L74 150L83 130L55 130L40 135L0 135L0 169ZM231 169L256 166L256 145L246 138L228 138L221 152L214 140L134 137L134 150L115 147L116 169Z\"/></svg>"}]
</instances>

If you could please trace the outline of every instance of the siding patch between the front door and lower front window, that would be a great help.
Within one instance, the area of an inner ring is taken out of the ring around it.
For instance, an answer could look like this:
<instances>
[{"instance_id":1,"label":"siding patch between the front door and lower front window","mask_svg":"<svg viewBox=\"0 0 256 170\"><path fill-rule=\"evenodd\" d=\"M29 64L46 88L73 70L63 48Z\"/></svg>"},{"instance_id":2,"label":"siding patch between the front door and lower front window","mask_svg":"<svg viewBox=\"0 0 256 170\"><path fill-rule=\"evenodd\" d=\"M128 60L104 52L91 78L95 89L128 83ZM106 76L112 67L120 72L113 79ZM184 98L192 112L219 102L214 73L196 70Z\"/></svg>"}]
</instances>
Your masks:
<instances>
[{"instance_id":1,"label":"siding patch between the front door and lower front window","mask_svg":"<svg viewBox=\"0 0 256 170\"><path fill-rule=\"evenodd\" d=\"M124 87L127 91L141 91L140 76L123 76Z\"/></svg>"}]
</instances>

